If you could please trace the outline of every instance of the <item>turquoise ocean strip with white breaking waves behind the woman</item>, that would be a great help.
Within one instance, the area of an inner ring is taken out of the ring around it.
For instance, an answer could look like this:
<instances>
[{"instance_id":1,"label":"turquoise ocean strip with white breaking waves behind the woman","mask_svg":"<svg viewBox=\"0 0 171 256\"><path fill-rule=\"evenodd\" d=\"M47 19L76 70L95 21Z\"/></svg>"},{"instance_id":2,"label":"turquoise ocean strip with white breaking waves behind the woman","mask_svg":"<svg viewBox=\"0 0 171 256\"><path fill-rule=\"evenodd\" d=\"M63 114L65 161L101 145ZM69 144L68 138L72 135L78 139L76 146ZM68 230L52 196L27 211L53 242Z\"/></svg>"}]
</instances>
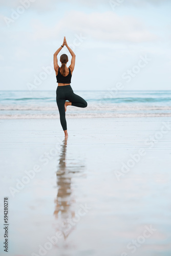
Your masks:
<instances>
[{"instance_id":1,"label":"turquoise ocean strip with white breaking waves behind the woman","mask_svg":"<svg viewBox=\"0 0 171 256\"><path fill-rule=\"evenodd\" d=\"M73 89L74 90L74 89ZM171 91L75 91L87 108L68 106L67 118L170 117ZM0 91L0 119L59 118L54 91Z\"/></svg>"}]
</instances>

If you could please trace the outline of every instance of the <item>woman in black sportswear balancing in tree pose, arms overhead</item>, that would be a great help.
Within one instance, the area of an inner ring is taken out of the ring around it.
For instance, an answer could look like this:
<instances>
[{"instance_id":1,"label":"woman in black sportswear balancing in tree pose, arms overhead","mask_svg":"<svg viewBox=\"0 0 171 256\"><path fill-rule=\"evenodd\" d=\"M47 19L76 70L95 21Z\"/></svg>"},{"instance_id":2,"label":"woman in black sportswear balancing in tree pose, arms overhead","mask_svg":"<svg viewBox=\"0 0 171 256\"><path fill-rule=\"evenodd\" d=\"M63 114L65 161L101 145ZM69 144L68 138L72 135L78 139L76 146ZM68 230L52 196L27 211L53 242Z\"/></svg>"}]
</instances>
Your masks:
<instances>
[{"instance_id":1,"label":"woman in black sportswear balancing in tree pose, arms overhead","mask_svg":"<svg viewBox=\"0 0 171 256\"><path fill-rule=\"evenodd\" d=\"M57 63L57 55L62 49L62 47L66 46L69 52L72 55L71 65L67 68L68 56L66 54L62 54L60 56L61 67L58 66ZM87 101L76 95L71 88L71 77L75 66L75 54L71 50L71 48L67 45L66 37L63 39L63 44L59 49L54 53L54 70L56 72L56 79L58 82L58 87L56 89L56 103L59 110L60 115L60 123L62 125L62 129L65 133L65 136L68 137L67 133L67 122L66 122L66 111L67 106L78 106L79 108L86 108ZM69 101L66 101L69 100Z\"/></svg>"}]
</instances>

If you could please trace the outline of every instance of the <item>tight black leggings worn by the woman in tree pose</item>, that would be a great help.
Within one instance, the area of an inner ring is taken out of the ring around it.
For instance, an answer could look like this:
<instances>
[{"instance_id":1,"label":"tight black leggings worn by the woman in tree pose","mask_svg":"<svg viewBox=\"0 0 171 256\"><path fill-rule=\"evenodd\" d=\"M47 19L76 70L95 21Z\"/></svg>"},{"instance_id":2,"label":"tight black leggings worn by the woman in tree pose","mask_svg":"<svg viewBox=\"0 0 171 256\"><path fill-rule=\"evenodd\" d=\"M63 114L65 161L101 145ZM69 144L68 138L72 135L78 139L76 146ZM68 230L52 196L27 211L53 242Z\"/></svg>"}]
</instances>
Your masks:
<instances>
[{"instance_id":1,"label":"tight black leggings worn by the woman in tree pose","mask_svg":"<svg viewBox=\"0 0 171 256\"><path fill-rule=\"evenodd\" d=\"M87 101L76 95L70 84L67 86L58 86L56 89L56 103L60 115L60 123L62 125L63 131L67 130L66 122L66 112L65 112L65 102L66 100L71 101L72 106L79 106L79 108L86 108Z\"/></svg>"}]
</instances>

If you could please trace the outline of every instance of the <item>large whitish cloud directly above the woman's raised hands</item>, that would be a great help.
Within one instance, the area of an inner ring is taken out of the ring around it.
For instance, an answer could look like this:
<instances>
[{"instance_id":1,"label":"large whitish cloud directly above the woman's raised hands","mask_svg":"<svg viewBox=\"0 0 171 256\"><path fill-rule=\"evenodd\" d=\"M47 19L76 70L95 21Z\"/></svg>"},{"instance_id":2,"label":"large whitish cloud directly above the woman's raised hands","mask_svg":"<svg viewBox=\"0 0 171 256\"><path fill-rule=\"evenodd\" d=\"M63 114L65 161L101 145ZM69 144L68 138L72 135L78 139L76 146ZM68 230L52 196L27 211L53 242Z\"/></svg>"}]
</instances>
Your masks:
<instances>
[{"instance_id":1,"label":"large whitish cloud directly above the woman's raised hands","mask_svg":"<svg viewBox=\"0 0 171 256\"><path fill-rule=\"evenodd\" d=\"M158 39L141 20L131 16L119 16L112 11L103 13L66 12L54 27L47 27L32 20L33 39L55 39L67 34L82 35L96 41L146 42Z\"/></svg>"}]
</instances>

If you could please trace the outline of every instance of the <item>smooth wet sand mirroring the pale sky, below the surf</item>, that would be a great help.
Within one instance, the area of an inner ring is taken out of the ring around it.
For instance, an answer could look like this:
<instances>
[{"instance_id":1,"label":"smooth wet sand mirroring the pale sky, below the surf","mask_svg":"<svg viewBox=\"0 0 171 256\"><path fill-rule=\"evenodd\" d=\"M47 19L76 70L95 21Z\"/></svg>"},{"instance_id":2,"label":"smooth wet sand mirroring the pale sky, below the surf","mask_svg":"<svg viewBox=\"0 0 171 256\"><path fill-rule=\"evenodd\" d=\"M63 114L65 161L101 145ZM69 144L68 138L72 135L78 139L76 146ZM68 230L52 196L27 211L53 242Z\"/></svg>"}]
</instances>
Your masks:
<instances>
[{"instance_id":1,"label":"smooth wet sand mirroring the pale sky, below the surf","mask_svg":"<svg viewBox=\"0 0 171 256\"><path fill-rule=\"evenodd\" d=\"M169 256L168 118L1 120L10 256Z\"/></svg>"}]
</instances>

